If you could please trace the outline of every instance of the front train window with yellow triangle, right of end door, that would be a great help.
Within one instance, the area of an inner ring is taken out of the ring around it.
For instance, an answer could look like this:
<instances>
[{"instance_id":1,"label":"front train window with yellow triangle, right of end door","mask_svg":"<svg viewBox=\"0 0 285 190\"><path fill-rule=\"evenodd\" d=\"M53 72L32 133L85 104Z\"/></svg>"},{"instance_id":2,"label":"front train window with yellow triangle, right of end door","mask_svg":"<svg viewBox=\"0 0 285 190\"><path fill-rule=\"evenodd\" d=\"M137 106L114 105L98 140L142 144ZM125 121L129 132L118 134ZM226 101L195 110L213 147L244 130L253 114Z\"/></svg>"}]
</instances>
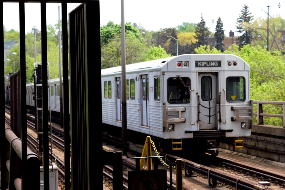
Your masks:
<instances>
[{"instance_id":1,"label":"front train window with yellow triangle, right of end door","mask_svg":"<svg viewBox=\"0 0 285 190\"><path fill-rule=\"evenodd\" d=\"M246 81L244 77L227 77L226 93L228 102L244 102L246 99Z\"/></svg>"}]
</instances>

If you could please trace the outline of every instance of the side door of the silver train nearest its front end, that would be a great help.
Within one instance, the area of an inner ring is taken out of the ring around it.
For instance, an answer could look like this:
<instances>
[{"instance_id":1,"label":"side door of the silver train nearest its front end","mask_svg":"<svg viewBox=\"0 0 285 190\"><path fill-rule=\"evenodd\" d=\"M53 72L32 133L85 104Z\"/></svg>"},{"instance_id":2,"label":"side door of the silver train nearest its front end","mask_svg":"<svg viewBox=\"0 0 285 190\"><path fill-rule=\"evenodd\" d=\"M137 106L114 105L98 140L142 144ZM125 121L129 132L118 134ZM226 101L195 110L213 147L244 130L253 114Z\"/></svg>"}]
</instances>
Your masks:
<instances>
[{"instance_id":1,"label":"side door of the silver train nearest its front end","mask_svg":"<svg viewBox=\"0 0 285 190\"><path fill-rule=\"evenodd\" d=\"M142 83L141 83L141 113L142 113L142 126L149 126L149 117L148 117L148 75L142 75Z\"/></svg>"}]
</instances>

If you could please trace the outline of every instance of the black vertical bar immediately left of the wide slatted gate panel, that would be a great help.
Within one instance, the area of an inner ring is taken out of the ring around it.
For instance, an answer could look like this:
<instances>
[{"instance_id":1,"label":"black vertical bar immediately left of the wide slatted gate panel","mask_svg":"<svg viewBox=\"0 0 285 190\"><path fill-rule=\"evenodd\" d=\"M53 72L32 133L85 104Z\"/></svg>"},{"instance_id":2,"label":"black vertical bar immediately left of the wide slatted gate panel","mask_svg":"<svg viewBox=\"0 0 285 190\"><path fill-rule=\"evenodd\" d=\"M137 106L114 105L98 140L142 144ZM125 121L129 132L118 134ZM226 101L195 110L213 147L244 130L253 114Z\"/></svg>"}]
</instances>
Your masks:
<instances>
[{"instance_id":1,"label":"black vertical bar immediately left of the wide slatted gate panel","mask_svg":"<svg viewBox=\"0 0 285 190\"><path fill-rule=\"evenodd\" d=\"M63 126L64 126L64 176L65 189L70 189L70 126L69 126L69 81L68 81L68 33L67 3L61 3L62 16L62 65L63 65Z\"/></svg>"}]
</instances>

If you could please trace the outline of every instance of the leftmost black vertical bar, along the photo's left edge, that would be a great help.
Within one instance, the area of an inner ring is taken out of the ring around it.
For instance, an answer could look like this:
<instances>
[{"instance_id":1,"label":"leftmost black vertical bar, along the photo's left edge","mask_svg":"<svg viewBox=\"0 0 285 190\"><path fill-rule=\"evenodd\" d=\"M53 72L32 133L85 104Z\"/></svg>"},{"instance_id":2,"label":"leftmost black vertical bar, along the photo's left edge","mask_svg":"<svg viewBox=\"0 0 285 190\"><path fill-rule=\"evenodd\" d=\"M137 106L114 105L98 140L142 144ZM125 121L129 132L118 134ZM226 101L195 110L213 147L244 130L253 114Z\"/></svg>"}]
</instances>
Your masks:
<instances>
[{"instance_id":1,"label":"leftmost black vertical bar, along the photo's left edge","mask_svg":"<svg viewBox=\"0 0 285 190\"><path fill-rule=\"evenodd\" d=\"M1 1L0 3L0 10L2 11L2 14L0 14L0 22L2 23L3 25L3 1ZM3 34L3 30L0 30L0 36L1 36L1 42L4 44L4 34ZM1 52L4 51L4 46L1 46ZM1 60L4 60L4 54L0 54L0 59ZM2 64L2 76L5 75L5 72L4 72L4 64ZM5 81L2 80L2 89L5 88ZM1 99L5 99L5 94L2 93L1 95ZM5 107L5 103L4 103L4 107ZM5 113L5 110L4 110L4 113ZM3 124L5 125L5 114L3 114ZM5 137L5 127L0 127L0 144L1 144L1 147L0 148L0 168L2 168L2 172L1 172L1 187L3 189L6 189L8 188L7 184L6 183L6 152L5 152L5 148L6 147L6 137Z\"/></svg>"}]
</instances>

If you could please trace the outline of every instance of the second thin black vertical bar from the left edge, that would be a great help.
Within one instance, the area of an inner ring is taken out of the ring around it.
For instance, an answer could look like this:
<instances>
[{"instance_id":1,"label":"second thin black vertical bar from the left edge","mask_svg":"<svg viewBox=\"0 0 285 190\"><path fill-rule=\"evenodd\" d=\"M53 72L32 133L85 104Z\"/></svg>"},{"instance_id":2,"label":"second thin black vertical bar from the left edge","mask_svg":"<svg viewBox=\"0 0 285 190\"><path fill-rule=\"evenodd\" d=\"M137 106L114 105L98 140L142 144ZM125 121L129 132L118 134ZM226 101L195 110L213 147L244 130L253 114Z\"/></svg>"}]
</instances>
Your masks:
<instances>
[{"instance_id":1,"label":"second thin black vertical bar from the left edge","mask_svg":"<svg viewBox=\"0 0 285 190\"><path fill-rule=\"evenodd\" d=\"M25 36L25 4L19 2L20 18L20 91L21 91L21 139L22 139L22 189L28 187L27 176L27 114L26 114L26 36Z\"/></svg>"}]
</instances>

